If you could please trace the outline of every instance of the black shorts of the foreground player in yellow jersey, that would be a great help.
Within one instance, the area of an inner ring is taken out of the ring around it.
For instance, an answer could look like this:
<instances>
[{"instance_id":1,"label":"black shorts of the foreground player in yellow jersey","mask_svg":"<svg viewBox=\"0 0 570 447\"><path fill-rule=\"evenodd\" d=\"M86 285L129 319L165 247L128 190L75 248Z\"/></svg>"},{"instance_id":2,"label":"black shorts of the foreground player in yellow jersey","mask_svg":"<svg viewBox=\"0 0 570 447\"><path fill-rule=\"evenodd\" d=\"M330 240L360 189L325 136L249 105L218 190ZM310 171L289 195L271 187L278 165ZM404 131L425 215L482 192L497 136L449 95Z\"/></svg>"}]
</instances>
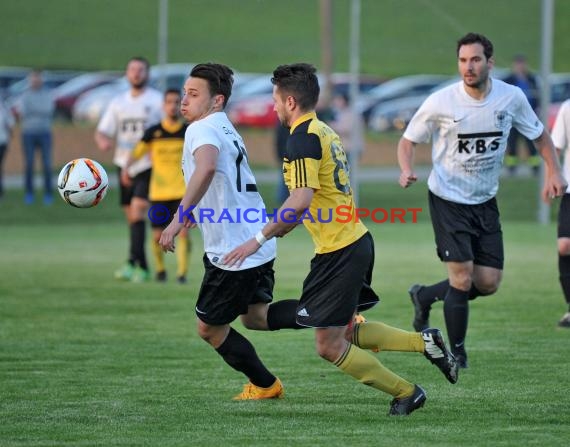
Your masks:
<instances>
[{"instance_id":1,"label":"black shorts of the foreground player in yellow jersey","mask_svg":"<svg viewBox=\"0 0 570 447\"><path fill-rule=\"evenodd\" d=\"M370 286L373 268L370 233L340 250L317 254L303 283L297 323L321 328L346 326L355 311L377 304L378 295Z\"/></svg>"}]
</instances>

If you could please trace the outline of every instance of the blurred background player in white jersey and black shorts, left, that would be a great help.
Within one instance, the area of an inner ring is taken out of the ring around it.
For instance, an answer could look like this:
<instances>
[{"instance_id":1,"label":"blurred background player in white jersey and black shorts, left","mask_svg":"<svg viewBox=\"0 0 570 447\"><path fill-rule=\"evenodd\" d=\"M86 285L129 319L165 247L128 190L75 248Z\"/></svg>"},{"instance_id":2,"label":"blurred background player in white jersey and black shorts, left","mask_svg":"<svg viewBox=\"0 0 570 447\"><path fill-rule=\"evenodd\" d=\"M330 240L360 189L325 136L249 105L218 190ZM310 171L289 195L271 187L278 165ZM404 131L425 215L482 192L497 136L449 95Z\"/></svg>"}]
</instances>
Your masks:
<instances>
[{"instance_id":1,"label":"blurred background player in white jersey and black shorts, left","mask_svg":"<svg viewBox=\"0 0 570 447\"><path fill-rule=\"evenodd\" d=\"M116 140L113 163L119 168L120 201L129 225L130 247L128 261L115 272L115 278L134 282L150 278L144 220L148 207L150 158L142 157L129 166L131 182L121 180L121 170L125 169L129 155L144 130L162 119L162 94L147 86L148 76L149 63L146 59L134 57L129 60L126 77L131 87L110 102L95 131L95 142L102 151L111 150Z\"/></svg>"}]
</instances>

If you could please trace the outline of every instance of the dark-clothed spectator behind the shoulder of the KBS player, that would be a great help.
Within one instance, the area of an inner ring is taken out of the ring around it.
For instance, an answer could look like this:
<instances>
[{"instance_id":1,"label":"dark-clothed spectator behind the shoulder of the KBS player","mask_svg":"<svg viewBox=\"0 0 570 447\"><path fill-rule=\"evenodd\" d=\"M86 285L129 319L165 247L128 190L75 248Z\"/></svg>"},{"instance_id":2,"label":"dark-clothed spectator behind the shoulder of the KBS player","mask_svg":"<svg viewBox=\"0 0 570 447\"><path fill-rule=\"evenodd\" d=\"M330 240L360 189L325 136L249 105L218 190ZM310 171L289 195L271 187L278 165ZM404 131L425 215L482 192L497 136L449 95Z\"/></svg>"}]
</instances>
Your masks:
<instances>
[{"instance_id":1,"label":"dark-clothed spectator behind the shoulder of the KBS player","mask_svg":"<svg viewBox=\"0 0 570 447\"><path fill-rule=\"evenodd\" d=\"M524 55L517 54L514 57L512 72L507 78L505 78L505 82L519 87L528 99L532 110L534 110L535 113L537 112L539 105L538 83L536 76L528 68L527 60ZM507 165L510 174L514 174L516 172L519 164L517 147L521 138L528 149L527 163L531 167L534 175L537 175L538 168L540 166L540 156L536 152L536 147L531 140L522 135L515 127L511 129L511 133L509 134L505 164Z\"/></svg>"}]
</instances>

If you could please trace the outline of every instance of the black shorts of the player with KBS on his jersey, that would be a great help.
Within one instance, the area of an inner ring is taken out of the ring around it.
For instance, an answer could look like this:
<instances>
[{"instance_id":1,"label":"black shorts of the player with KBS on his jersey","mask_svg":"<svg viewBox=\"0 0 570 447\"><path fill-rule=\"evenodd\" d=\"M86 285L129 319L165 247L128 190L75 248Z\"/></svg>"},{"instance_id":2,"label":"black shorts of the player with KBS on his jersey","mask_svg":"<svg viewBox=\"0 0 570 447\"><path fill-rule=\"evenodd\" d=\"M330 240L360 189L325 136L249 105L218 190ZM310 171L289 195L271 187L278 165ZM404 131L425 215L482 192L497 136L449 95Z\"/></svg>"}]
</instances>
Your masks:
<instances>
[{"instance_id":1,"label":"black shorts of the player with KBS on his jersey","mask_svg":"<svg viewBox=\"0 0 570 447\"><path fill-rule=\"evenodd\" d=\"M429 191L429 209L439 259L503 269L503 232L495 198L464 205Z\"/></svg>"}]
</instances>

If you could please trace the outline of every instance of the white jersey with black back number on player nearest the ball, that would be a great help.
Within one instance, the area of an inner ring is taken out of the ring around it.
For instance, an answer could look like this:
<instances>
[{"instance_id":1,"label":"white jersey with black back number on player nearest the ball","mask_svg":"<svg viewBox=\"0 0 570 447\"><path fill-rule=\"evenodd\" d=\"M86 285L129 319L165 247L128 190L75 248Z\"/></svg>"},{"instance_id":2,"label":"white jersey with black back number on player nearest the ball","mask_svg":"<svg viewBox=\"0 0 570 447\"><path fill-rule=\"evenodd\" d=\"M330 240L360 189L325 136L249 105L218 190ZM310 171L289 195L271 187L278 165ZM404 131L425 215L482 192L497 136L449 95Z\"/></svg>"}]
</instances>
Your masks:
<instances>
[{"instance_id":1,"label":"white jersey with black back number on player nearest the ball","mask_svg":"<svg viewBox=\"0 0 570 447\"><path fill-rule=\"evenodd\" d=\"M229 270L220 264L222 257L264 227L265 204L257 192L243 139L224 112L208 115L186 129L182 156L186 183L196 168L194 152L206 144L218 149L218 163L212 182L196 204L193 215L202 231L208 259L217 267ZM246 258L239 270L260 266L275 256L273 238Z\"/></svg>"}]
</instances>

